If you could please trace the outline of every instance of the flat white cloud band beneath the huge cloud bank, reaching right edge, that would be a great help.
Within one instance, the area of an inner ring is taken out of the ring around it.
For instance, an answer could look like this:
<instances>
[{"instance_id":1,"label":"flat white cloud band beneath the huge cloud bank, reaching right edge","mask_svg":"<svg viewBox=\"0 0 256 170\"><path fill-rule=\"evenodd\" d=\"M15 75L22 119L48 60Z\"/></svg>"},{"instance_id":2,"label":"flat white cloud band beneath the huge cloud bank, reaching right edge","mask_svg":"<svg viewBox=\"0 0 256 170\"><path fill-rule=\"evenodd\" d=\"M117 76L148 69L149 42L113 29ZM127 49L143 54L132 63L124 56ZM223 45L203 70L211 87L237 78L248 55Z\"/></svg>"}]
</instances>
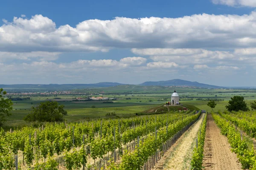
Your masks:
<instances>
[{"instance_id":1,"label":"flat white cloud band beneath the huge cloud bank, reaching right edge","mask_svg":"<svg viewBox=\"0 0 256 170\"><path fill-rule=\"evenodd\" d=\"M200 48L133 48L135 54L148 55L154 62L175 62L180 65L255 65L256 48L231 51L210 51Z\"/></svg>"}]
</instances>

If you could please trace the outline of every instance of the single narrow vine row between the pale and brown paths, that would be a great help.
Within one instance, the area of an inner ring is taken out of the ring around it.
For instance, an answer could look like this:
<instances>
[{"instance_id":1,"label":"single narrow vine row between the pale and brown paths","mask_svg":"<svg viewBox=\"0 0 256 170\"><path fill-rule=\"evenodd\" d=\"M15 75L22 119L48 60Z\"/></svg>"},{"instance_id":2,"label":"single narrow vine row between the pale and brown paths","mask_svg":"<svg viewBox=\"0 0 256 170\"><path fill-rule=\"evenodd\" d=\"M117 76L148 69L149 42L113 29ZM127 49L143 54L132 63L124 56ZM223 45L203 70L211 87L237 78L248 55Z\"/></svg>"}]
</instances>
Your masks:
<instances>
[{"instance_id":1,"label":"single narrow vine row between the pale and brown paths","mask_svg":"<svg viewBox=\"0 0 256 170\"><path fill-rule=\"evenodd\" d=\"M191 160L192 170L202 170L203 157L204 157L204 138L206 132L207 114L205 114L203 119L203 125L201 126L201 135L198 132L198 148L195 147L193 150L193 156Z\"/></svg>"}]
</instances>

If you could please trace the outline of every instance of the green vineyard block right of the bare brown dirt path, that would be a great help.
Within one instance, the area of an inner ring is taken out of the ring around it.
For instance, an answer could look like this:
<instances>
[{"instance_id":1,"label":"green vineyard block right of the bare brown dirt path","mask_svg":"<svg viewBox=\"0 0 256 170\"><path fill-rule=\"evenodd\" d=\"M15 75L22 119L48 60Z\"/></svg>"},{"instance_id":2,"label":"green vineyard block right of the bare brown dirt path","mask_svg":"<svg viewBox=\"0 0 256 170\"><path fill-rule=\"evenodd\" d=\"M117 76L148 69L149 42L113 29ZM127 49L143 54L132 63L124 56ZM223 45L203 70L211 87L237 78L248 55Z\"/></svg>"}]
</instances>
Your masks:
<instances>
[{"instance_id":1,"label":"green vineyard block right of the bare brown dirt path","mask_svg":"<svg viewBox=\"0 0 256 170\"><path fill-rule=\"evenodd\" d=\"M242 169L256 170L256 112L212 113L221 133L227 136ZM240 130L239 130L240 129ZM243 133L245 132L245 133Z\"/></svg>"}]
</instances>

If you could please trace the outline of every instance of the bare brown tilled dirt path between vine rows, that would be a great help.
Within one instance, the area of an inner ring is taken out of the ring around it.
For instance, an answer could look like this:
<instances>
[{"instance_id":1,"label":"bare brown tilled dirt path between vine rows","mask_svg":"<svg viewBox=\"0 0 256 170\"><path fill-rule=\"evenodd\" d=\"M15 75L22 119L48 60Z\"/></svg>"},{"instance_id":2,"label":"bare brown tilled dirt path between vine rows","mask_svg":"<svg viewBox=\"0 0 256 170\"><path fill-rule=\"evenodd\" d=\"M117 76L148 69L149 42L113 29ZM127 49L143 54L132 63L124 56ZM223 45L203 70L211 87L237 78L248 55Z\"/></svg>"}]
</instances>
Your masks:
<instances>
[{"instance_id":1,"label":"bare brown tilled dirt path between vine rows","mask_svg":"<svg viewBox=\"0 0 256 170\"><path fill-rule=\"evenodd\" d=\"M241 164L230 148L227 137L221 135L212 115L208 114L203 160L205 170L241 170Z\"/></svg>"}]
</instances>

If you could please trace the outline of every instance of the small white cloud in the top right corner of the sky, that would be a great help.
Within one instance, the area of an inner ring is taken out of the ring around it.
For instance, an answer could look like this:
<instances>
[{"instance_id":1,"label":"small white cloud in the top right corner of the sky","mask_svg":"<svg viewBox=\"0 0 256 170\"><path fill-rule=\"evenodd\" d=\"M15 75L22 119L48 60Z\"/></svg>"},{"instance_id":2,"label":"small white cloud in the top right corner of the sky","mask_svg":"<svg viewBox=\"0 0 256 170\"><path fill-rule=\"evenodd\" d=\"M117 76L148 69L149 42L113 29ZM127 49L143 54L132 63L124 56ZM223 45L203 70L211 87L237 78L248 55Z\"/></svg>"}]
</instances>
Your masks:
<instances>
[{"instance_id":1,"label":"small white cloud in the top right corner of the sky","mask_svg":"<svg viewBox=\"0 0 256 170\"><path fill-rule=\"evenodd\" d=\"M212 0L212 3L227 6L256 7L256 0Z\"/></svg>"}]
</instances>

